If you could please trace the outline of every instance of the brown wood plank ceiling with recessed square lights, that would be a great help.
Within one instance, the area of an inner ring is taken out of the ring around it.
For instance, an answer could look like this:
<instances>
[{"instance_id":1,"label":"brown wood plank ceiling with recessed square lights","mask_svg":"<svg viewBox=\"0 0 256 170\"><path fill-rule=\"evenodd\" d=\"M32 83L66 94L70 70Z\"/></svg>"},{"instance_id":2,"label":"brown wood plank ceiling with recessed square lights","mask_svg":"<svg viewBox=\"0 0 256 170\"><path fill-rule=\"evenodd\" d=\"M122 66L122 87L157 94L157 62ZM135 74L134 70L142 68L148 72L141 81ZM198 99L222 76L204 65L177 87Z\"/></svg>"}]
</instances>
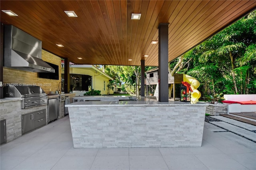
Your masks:
<instances>
[{"instance_id":1,"label":"brown wood plank ceiling with recessed square lights","mask_svg":"<svg viewBox=\"0 0 256 170\"><path fill-rule=\"evenodd\" d=\"M1 23L78 64L158 65L158 25L169 23L169 61L256 9L256 0L1 0ZM69 18L64 10L76 12ZM141 13L140 20L131 20ZM64 47L58 47L62 44ZM149 55L144 57L144 55ZM82 57L82 59L78 59ZM132 61L128 61L132 59Z\"/></svg>"}]
</instances>

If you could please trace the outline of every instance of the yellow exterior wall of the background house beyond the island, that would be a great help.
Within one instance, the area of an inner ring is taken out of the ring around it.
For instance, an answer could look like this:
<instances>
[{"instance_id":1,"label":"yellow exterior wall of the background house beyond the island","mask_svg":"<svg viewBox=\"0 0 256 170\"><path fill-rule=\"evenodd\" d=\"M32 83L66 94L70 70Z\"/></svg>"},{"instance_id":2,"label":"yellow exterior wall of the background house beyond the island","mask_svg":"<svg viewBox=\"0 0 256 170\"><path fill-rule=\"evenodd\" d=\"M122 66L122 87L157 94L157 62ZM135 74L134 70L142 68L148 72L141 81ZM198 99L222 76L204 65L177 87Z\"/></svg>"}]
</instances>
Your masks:
<instances>
[{"instance_id":1,"label":"yellow exterior wall of the background house beyond the island","mask_svg":"<svg viewBox=\"0 0 256 170\"><path fill-rule=\"evenodd\" d=\"M63 73L64 73L64 70L62 70L62 74ZM96 71L94 69L70 67L69 73L92 76L92 89L100 90L101 95L108 95L108 87L107 87L107 85L109 83L108 77L100 74L99 72L96 73ZM104 90L104 81L105 81L105 90ZM114 91L110 90L110 94L113 94L113 93L114 93Z\"/></svg>"}]
</instances>

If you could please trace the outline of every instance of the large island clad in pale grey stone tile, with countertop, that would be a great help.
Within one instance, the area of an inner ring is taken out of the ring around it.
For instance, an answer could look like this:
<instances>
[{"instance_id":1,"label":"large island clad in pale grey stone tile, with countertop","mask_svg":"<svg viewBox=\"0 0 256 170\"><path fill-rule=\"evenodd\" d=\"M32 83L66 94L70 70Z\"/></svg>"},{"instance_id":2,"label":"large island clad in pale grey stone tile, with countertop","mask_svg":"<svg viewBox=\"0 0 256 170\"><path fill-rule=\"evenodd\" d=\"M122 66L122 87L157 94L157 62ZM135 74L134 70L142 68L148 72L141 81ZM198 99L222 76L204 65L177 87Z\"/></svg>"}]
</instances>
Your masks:
<instances>
[{"instance_id":1,"label":"large island clad in pale grey stone tile, with countertop","mask_svg":"<svg viewBox=\"0 0 256 170\"><path fill-rule=\"evenodd\" d=\"M74 148L119 148L200 147L207 105L138 98L65 106Z\"/></svg>"}]
</instances>

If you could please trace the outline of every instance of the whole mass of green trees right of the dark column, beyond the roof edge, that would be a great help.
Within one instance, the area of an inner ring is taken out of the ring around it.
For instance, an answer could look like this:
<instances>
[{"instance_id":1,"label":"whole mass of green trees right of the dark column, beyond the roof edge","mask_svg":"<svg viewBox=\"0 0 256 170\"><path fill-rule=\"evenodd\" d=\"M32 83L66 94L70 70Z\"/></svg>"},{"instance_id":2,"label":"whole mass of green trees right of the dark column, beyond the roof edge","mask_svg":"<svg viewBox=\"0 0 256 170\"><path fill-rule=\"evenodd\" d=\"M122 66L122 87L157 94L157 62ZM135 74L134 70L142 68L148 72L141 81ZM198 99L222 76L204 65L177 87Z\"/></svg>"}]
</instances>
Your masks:
<instances>
[{"instance_id":1,"label":"whole mass of green trees right of the dark column, beyond the roof edge","mask_svg":"<svg viewBox=\"0 0 256 170\"><path fill-rule=\"evenodd\" d=\"M256 93L256 11L169 63L210 93Z\"/></svg>"}]
</instances>

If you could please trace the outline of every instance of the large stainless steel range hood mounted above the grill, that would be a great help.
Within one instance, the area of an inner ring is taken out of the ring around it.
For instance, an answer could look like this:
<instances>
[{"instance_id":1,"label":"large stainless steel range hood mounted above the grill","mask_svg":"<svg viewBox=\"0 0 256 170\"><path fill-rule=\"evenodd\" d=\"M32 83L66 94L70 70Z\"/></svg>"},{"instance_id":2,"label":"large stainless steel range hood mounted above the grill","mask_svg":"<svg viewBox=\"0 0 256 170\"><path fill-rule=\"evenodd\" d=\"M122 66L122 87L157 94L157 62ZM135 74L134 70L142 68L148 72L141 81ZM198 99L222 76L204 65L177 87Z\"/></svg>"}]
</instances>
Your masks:
<instances>
[{"instance_id":1,"label":"large stainless steel range hood mounted above the grill","mask_svg":"<svg viewBox=\"0 0 256 170\"><path fill-rule=\"evenodd\" d=\"M12 25L4 26L4 67L55 73L42 60L42 42Z\"/></svg>"}]
</instances>

